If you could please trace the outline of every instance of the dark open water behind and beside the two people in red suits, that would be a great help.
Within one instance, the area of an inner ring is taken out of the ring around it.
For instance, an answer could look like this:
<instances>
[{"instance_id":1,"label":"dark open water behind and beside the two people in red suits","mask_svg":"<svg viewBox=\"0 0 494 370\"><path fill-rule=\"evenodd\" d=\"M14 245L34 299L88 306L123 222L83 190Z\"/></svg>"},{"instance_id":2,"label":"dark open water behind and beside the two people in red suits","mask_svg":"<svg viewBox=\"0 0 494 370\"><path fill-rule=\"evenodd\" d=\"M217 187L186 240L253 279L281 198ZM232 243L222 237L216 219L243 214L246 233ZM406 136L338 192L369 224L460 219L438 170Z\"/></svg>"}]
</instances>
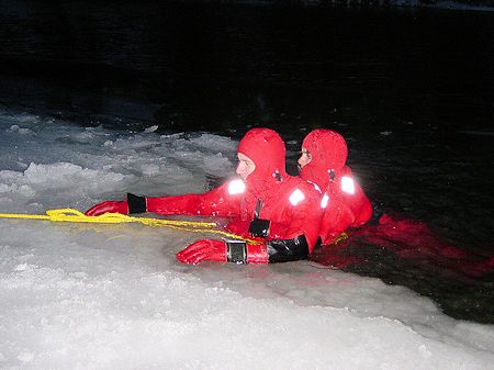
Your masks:
<instances>
[{"instance_id":1,"label":"dark open water behind and beside the two people in red suits","mask_svg":"<svg viewBox=\"0 0 494 370\"><path fill-rule=\"evenodd\" d=\"M83 125L341 132L370 198L494 255L494 13L2 1L0 104ZM293 168L293 160L290 164ZM494 323L493 274L379 246L347 269Z\"/></svg>"}]
</instances>

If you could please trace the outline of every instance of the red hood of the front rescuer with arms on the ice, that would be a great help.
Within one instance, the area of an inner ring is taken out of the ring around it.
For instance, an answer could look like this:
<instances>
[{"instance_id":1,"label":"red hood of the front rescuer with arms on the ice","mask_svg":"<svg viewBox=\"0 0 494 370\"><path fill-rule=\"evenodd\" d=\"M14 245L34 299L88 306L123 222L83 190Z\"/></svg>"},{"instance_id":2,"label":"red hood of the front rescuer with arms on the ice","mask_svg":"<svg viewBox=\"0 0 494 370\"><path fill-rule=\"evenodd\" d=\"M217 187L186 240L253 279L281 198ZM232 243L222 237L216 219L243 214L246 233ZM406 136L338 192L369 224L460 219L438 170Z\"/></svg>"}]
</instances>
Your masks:
<instances>
[{"instance_id":1,"label":"red hood of the front rescuer with arms on the ice","mask_svg":"<svg viewBox=\"0 0 494 370\"><path fill-rule=\"evenodd\" d=\"M238 144L238 153L249 157L256 165L245 182L256 195L271 189L287 177L284 168L284 142L269 128L249 130Z\"/></svg>"}]
</instances>

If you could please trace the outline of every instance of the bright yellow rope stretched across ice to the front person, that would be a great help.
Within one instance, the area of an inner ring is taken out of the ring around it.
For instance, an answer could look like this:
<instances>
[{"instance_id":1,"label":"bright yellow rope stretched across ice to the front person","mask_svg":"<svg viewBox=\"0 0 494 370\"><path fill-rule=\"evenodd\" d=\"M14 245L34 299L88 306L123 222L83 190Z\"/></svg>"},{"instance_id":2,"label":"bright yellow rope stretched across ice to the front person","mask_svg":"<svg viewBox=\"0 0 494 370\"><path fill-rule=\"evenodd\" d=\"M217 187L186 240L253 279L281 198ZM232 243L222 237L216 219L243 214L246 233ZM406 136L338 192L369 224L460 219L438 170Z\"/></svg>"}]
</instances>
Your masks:
<instances>
[{"instance_id":1,"label":"bright yellow rope stretched across ice to the front person","mask_svg":"<svg viewBox=\"0 0 494 370\"><path fill-rule=\"evenodd\" d=\"M250 244L259 244L259 240L244 238L236 234L227 233L217 229L217 224L214 222L200 221L176 221L162 218L134 217L121 213L104 213L99 216L87 216L80 211L74 209L48 210L46 214L22 214L22 213L0 213L0 218L27 218L27 220L43 220L52 222L85 222L99 224L120 224L137 222L148 226L166 226L175 229L193 232L193 233L213 233L248 242Z\"/></svg>"}]
</instances>

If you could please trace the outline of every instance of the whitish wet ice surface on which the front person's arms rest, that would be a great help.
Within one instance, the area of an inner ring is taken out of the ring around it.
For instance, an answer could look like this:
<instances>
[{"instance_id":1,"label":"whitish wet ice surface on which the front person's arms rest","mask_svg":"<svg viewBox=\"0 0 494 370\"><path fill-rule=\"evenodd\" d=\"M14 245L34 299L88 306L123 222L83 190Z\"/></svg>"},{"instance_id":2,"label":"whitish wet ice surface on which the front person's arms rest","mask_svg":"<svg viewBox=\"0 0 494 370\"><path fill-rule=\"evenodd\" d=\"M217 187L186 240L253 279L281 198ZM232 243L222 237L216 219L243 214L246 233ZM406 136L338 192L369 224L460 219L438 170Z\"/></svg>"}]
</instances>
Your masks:
<instances>
[{"instance_id":1,"label":"whitish wet ice surface on which the front person's arms rest","mask_svg":"<svg viewBox=\"0 0 494 370\"><path fill-rule=\"evenodd\" d=\"M0 210L202 192L236 142L0 115ZM492 325L306 261L180 265L200 235L0 220L2 369L489 369Z\"/></svg>"}]
</instances>

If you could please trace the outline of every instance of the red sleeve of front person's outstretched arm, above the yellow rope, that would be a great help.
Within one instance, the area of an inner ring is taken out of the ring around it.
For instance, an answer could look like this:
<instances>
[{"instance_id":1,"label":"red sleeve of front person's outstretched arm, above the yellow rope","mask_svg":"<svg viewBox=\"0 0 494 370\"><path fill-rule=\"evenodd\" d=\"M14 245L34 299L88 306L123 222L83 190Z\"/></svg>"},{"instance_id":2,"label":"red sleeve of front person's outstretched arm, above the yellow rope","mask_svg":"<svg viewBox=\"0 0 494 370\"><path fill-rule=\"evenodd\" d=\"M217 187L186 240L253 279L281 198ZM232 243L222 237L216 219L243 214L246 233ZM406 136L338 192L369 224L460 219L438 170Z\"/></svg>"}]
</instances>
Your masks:
<instances>
[{"instance_id":1,"label":"red sleeve of front person's outstretched arm, above the yellow rope","mask_svg":"<svg viewBox=\"0 0 494 370\"><path fill-rule=\"evenodd\" d=\"M234 217L239 214L239 197L228 193L228 182L203 194L146 198L148 212Z\"/></svg>"}]
</instances>

